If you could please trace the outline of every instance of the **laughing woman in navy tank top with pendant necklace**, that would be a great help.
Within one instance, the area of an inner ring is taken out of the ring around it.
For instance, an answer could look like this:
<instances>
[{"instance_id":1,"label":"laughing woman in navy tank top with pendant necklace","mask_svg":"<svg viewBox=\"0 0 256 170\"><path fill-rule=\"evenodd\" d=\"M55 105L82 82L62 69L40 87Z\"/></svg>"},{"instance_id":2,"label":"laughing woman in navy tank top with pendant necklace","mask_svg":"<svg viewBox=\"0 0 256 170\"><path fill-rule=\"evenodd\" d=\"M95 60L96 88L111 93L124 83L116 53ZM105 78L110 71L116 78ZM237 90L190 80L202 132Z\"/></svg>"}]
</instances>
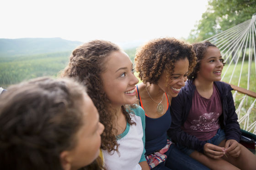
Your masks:
<instances>
[{"instance_id":1,"label":"laughing woman in navy tank top with pendant necklace","mask_svg":"<svg viewBox=\"0 0 256 170\"><path fill-rule=\"evenodd\" d=\"M135 64L142 80L137 85L137 97L146 114L145 149L149 167L154 170L208 170L167 140L171 99L178 95L196 64L192 46L175 38L155 39L137 50Z\"/></svg>"}]
</instances>

